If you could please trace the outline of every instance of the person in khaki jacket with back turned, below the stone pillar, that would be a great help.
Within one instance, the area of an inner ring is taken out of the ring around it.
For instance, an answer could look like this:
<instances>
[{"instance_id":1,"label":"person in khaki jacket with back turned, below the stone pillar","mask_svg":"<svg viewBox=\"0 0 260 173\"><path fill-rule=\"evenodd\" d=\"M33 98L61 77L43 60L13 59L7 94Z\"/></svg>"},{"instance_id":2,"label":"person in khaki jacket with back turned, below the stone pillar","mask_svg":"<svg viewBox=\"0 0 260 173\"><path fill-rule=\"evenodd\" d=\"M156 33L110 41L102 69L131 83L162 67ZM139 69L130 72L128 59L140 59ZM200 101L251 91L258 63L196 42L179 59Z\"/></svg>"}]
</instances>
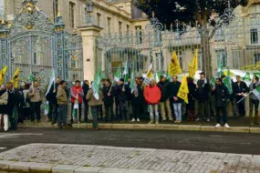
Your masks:
<instances>
[{"instance_id":1,"label":"person in khaki jacket with back turned, below the stone pillar","mask_svg":"<svg viewBox=\"0 0 260 173\"><path fill-rule=\"evenodd\" d=\"M92 86L93 82L91 82L91 86ZM99 116L99 107L103 105L103 95L101 90L99 89L99 99L97 99L96 97L94 97L94 92L93 92L93 88L90 88L88 90L88 94L87 94L87 100L88 100L88 105L90 106L91 109L91 114L93 117L93 128L94 129L99 129L98 126L98 116Z\"/></svg>"}]
</instances>

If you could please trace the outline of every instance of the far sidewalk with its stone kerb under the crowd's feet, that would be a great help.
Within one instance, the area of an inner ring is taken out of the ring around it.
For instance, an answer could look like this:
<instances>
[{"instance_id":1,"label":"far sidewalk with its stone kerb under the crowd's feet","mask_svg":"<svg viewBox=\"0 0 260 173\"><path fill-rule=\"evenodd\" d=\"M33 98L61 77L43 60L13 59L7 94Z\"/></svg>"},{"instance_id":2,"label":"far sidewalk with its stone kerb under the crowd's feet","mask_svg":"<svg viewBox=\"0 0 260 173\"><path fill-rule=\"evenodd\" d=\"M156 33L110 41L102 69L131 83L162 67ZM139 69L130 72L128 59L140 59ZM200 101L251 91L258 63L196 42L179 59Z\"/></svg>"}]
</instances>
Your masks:
<instances>
[{"instance_id":1,"label":"far sidewalk with its stone kerb under the crowd's feet","mask_svg":"<svg viewBox=\"0 0 260 173\"><path fill-rule=\"evenodd\" d=\"M171 122L162 122L159 125L149 125L148 121L142 121L141 123L125 123L115 122L113 124L99 123L99 129L144 129L144 130L187 130L187 131L217 131L217 132L239 132L239 133L260 133L260 126L255 125L252 127L248 126L247 118L232 119L230 120L231 128L225 127L214 127L215 122L206 123L200 122L183 122L180 125L173 124ZM19 125L19 127L56 127L51 123L31 123L30 121L25 121L24 125ZM73 124L73 128L92 128L91 121L86 123Z\"/></svg>"}]
</instances>

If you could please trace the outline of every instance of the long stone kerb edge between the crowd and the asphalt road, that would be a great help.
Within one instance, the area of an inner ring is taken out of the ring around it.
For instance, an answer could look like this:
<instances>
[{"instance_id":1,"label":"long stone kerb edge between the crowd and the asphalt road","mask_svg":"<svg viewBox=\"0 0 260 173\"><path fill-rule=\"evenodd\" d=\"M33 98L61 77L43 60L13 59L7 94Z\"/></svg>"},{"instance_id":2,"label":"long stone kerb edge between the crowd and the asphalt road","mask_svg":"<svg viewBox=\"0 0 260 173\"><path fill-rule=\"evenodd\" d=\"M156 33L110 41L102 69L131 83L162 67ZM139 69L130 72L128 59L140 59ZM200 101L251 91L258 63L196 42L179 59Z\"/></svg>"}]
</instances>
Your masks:
<instances>
[{"instance_id":1,"label":"long stone kerb edge between the crowd and the asphalt road","mask_svg":"<svg viewBox=\"0 0 260 173\"><path fill-rule=\"evenodd\" d=\"M43 126L22 125L19 127L55 127L57 125L45 124ZM73 128L91 129L91 124L73 124ZM148 124L99 124L99 129L146 129L146 130L182 130L182 131L210 131L210 132L237 132L260 133L260 127L213 127L196 125L148 125Z\"/></svg>"}]
</instances>

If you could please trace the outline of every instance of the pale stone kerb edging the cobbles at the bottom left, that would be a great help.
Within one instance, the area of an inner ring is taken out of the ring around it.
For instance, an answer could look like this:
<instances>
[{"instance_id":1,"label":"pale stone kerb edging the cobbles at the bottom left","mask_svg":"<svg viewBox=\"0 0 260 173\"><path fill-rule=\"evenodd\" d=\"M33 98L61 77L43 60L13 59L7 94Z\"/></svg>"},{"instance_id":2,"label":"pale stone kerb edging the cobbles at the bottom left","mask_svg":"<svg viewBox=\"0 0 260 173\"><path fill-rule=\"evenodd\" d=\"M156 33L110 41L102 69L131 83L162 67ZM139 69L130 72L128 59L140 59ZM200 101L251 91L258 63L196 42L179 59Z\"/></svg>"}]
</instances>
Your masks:
<instances>
[{"instance_id":1,"label":"pale stone kerb edging the cobbles at the bottom left","mask_svg":"<svg viewBox=\"0 0 260 173\"><path fill-rule=\"evenodd\" d=\"M81 167L72 165L55 165L36 162L19 162L5 160L0 160L0 166L0 171L18 171L32 173L168 173L163 171L142 169Z\"/></svg>"}]
</instances>

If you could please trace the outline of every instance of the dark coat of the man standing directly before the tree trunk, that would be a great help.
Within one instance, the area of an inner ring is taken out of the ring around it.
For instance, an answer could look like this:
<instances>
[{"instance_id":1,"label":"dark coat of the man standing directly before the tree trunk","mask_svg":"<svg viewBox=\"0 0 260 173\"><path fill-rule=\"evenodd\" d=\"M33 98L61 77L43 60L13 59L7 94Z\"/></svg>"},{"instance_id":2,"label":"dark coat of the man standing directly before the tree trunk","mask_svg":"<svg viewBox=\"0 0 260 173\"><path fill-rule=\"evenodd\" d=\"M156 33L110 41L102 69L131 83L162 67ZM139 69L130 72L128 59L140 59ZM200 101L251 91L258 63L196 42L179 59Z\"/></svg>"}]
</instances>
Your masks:
<instances>
[{"instance_id":1,"label":"dark coat of the man standing directly before the tree trunk","mask_svg":"<svg viewBox=\"0 0 260 173\"><path fill-rule=\"evenodd\" d=\"M206 84L204 83L204 79L203 80L200 79L197 82L197 85L199 86L198 87L198 95L197 95L198 100L206 101L206 100L209 99L211 86L210 86L209 80L208 79L206 79L206 80L207 80Z\"/></svg>"}]
</instances>

